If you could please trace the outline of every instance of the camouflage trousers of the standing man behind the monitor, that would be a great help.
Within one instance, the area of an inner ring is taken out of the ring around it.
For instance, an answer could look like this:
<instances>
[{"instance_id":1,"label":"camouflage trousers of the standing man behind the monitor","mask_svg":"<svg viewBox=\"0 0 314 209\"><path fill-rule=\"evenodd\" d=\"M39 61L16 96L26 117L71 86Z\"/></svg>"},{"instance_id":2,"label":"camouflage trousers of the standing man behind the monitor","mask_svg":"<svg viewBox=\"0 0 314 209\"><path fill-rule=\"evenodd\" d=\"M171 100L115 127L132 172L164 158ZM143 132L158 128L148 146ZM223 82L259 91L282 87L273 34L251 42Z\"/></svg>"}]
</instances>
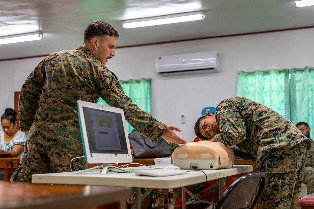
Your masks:
<instances>
[{"instance_id":1,"label":"camouflage trousers of the standing man behind the monitor","mask_svg":"<svg viewBox=\"0 0 314 209\"><path fill-rule=\"evenodd\" d=\"M27 140L20 165L15 170L10 181L31 183L32 174L71 171L70 162L76 157L80 156ZM87 168L85 158L78 158L72 161L72 170Z\"/></svg>"}]
</instances>

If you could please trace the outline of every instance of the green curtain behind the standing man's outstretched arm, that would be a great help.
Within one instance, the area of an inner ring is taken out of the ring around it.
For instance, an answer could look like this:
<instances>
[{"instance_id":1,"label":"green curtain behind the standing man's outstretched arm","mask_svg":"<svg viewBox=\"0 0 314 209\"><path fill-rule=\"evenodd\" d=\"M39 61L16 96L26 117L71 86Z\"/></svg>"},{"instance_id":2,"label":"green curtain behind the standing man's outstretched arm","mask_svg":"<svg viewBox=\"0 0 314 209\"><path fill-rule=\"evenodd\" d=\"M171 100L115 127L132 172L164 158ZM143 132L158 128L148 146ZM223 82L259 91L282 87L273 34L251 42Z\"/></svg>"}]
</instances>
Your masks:
<instances>
[{"instance_id":1,"label":"green curtain behind the standing man's outstretched arm","mask_svg":"<svg viewBox=\"0 0 314 209\"><path fill-rule=\"evenodd\" d=\"M132 103L137 104L139 108L151 114L151 80L141 78L141 80L119 81L124 93L132 99ZM99 98L97 104L109 106L105 100ZM126 121L127 123L127 121ZM127 133L131 133L134 128L127 123Z\"/></svg>"}]
</instances>

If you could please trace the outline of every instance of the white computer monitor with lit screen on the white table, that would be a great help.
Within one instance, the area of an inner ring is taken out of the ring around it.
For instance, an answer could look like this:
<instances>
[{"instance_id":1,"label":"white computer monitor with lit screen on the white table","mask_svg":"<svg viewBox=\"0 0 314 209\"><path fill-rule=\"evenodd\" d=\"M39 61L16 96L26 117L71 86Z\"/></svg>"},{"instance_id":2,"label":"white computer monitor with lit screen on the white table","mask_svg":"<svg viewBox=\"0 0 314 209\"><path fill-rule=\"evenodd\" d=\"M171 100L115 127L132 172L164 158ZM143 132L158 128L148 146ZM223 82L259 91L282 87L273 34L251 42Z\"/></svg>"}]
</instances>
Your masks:
<instances>
[{"instance_id":1,"label":"white computer monitor with lit screen on the white table","mask_svg":"<svg viewBox=\"0 0 314 209\"><path fill-rule=\"evenodd\" d=\"M111 163L131 163L123 110L81 100L77 104L87 163L103 164L103 174L108 166L113 167Z\"/></svg>"}]
</instances>

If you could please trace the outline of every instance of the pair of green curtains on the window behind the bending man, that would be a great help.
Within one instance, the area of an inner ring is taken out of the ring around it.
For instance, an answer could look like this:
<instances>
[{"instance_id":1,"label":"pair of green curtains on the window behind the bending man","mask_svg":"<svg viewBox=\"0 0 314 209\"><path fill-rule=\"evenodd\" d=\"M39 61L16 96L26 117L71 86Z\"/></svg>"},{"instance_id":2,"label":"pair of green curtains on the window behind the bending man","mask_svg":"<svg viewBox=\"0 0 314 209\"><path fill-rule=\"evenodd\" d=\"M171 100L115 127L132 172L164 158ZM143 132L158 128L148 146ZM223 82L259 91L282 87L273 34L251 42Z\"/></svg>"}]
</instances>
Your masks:
<instances>
[{"instance_id":1,"label":"pair of green curtains on the window behind the bending man","mask_svg":"<svg viewBox=\"0 0 314 209\"><path fill-rule=\"evenodd\" d=\"M237 96L259 102L296 124L306 122L314 130L314 70L284 69L239 72ZM314 131L311 133L313 137Z\"/></svg>"}]
</instances>

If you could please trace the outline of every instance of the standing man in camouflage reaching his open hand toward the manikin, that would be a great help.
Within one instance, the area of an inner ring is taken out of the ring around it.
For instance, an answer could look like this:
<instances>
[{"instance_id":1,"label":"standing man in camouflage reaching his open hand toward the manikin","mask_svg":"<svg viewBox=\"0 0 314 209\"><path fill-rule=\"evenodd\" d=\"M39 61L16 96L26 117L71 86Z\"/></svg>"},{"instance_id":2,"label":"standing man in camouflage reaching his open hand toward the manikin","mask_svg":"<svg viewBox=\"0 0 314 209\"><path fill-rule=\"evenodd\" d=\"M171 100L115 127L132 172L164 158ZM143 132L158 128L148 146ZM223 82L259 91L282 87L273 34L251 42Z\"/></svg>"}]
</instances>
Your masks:
<instances>
[{"instance_id":1,"label":"standing man in camouflage reaching his open hand toward the manikin","mask_svg":"<svg viewBox=\"0 0 314 209\"><path fill-rule=\"evenodd\" d=\"M52 53L28 76L20 91L19 121L29 131L24 155L11 181L31 182L32 174L70 171L70 161L84 155L77 101L97 102L123 109L126 120L144 136L156 142L185 144L173 130L158 122L127 97L116 77L105 66L115 56L118 32L96 21L85 29L84 44L76 50ZM40 95L43 100L40 101ZM85 159L76 159L74 169L86 169Z\"/></svg>"}]
</instances>

